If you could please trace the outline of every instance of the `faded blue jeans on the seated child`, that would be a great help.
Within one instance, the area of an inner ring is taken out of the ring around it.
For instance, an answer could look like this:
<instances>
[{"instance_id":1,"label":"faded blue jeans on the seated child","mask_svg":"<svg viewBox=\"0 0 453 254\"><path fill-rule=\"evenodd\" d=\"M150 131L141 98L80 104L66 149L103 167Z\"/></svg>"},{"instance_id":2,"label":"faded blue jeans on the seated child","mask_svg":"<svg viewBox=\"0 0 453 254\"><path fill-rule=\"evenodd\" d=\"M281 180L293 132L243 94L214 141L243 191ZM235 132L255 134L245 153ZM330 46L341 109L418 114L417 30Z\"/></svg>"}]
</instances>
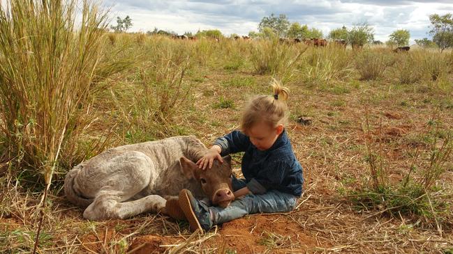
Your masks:
<instances>
[{"instance_id":1,"label":"faded blue jeans on the seated child","mask_svg":"<svg viewBox=\"0 0 453 254\"><path fill-rule=\"evenodd\" d=\"M237 191L246 186L244 179L232 177L232 189ZM228 207L208 207L212 225L225 223L247 214L290 212L297 204L297 197L281 191L269 190L264 194L248 194L234 200Z\"/></svg>"}]
</instances>

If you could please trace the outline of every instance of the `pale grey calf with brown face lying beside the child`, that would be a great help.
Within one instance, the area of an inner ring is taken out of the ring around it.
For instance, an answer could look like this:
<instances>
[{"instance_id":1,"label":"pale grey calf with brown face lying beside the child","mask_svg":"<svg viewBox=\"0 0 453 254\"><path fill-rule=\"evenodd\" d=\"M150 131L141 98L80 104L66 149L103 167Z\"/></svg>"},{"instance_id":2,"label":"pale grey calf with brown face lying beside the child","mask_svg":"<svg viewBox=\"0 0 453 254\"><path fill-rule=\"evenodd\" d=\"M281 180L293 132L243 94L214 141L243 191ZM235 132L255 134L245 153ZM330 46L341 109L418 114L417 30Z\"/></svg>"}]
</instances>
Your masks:
<instances>
[{"instance_id":1,"label":"pale grey calf with brown face lying beside the child","mask_svg":"<svg viewBox=\"0 0 453 254\"><path fill-rule=\"evenodd\" d=\"M227 207L231 191L231 157L214 161L210 170L193 162L207 148L195 136L177 136L112 148L68 172L64 191L71 203L87 207L89 220L125 219L142 212L165 212L165 198L189 189Z\"/></svg>"}]
</instances>

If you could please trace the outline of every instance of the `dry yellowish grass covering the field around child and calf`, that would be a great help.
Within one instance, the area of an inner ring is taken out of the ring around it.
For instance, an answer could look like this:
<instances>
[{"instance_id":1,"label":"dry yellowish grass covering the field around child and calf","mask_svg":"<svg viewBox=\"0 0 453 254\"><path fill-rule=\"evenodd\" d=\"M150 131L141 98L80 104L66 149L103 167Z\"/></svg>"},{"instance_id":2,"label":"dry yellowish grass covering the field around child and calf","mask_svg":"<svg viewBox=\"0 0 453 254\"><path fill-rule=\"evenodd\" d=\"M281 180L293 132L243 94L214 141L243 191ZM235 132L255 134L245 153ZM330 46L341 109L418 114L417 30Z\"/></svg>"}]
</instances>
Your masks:
<instances>
[{"instance_id":1,"label":"dry yellowish grass covering the field around child and calf","mask_svg":"<svg viewBox=\"0 0 453 254\"><path fill-rule=\"evenodd\" d=\"M110 145L175 134L195 134L209 145L238 127L242 105L251 95L269 93L271 75L283 73L286 66L289 75L295 74L286 79L293 119L286 129L304 166L305 192L293 212L246 216L200 235L188 232L187 223L156 214L124 221L85 221L57 184L50 189L38 253L442 253L453 248L453 228L445 220L449 217L436 210L436 200L452 204L451 157L443 159L443 167L432 164L443 170L425 175L425 182L434 188L425 203L436 214L429 220L397 209L389 214L379 205L359 208L350 196L373 182L366 161L366 142L373 140L366 139L368 131L375 137L370 145L378 148L376 158L382 158L385 166L386 175L377 175L385 177L381 181L397 186L410 173L414 181L424 182L422 169L436 161L431 157L433 148L442 148L453 127L453 77L448 66L436 62L436 52L392 55L396 63L380 74L382 78L362 81L359 70L348 64L357 57L349 49L310 48L296 58L288 52L300 52L304 46L191 42L121 33L107 38L111 51L105 51L105 66L115 62L134 68L123 67L123 72L112 74L105 68L102 73L110 78L96 83L99 90L90 101L89 113L97 119L89 135L78 136L77 142L105 139L103 130L111 129L115 143ZM273 56L279 60L273 66L280 67L257 74L256 54L273 54L264 50L267 47L274 47ZM422 71L414 81L413 72L406 68L409 63L431 71ZM304 72L310 68L318 70ZM410 82L401 82L405 75ZM306 86L310 82L315 86ZM324 82L329 89L320 86ZM438 112L436 118L434 112ZM311 117L311 125L296 122L300 115ZM366 115L369 128L364 132ZM442 125L431 125L426 132L426 125L437 123L435 119L441 119ZM31 253L39 224L40 189L24 189L28 171L14 174L15 164L6 163L5 158L0 160L0 252ZM233 161L239 167L240 156ZM412 168L419 170L411 172ZM235 173L239 175L240 170Z\"/></svg>"}]
</instances>

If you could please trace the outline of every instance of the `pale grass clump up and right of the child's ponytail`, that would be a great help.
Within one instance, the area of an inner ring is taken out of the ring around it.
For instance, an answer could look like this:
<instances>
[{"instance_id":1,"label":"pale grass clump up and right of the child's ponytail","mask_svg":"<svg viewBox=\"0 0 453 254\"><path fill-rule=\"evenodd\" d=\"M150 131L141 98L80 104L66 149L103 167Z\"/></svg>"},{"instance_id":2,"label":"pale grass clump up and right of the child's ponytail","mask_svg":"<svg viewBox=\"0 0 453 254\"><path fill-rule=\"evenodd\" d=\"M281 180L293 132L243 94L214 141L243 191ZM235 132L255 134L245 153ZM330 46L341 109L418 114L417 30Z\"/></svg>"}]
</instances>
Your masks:
<instances>
[{"instance_id":1,"label":"pale grass clump up and right of the child's ponytail","mask_svg":"<svg viewBox=\"0 0 453 254\"><path fill-rule=\"evenodd\" d=\"M339 47L313 48L300 66L302 79L311 86L329 84L333 80L342 80L352 73L350 51Z\"/></svg>"}]
</instances>

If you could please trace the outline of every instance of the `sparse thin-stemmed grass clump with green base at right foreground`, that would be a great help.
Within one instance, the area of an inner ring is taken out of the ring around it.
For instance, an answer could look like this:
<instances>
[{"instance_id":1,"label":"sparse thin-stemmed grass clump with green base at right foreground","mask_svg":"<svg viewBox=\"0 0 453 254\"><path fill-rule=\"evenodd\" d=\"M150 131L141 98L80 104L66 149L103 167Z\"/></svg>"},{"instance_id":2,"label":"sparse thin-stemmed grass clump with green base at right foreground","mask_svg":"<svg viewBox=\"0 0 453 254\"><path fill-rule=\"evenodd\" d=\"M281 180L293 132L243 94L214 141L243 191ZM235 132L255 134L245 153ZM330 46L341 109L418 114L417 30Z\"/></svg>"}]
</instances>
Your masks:
<instances>
[{"instance_id":1,"label":"sparse thin-stemmed grass clump with green base at right foreground","mask_svg":"<svg viewBox=\"0 0 453 254\"><path fill-rule=\"evenodd\" d=\"M370 179L352 191L352 202L358 209L377 211L375 215L407 216L414 221L436 225L441 234L442 225L451 225L453 218L451 194L448 194L451 190L439 182L447 171L446 162L452 158L453 133L442 129L438 120L429 120L423 134L424 139L429 140L427 149L417 148L401 182L392 183L390 166L385 160L383 127L379 127L377 134L370 132L367 117L365 128Z\"/></svg>"}]
</instances>

